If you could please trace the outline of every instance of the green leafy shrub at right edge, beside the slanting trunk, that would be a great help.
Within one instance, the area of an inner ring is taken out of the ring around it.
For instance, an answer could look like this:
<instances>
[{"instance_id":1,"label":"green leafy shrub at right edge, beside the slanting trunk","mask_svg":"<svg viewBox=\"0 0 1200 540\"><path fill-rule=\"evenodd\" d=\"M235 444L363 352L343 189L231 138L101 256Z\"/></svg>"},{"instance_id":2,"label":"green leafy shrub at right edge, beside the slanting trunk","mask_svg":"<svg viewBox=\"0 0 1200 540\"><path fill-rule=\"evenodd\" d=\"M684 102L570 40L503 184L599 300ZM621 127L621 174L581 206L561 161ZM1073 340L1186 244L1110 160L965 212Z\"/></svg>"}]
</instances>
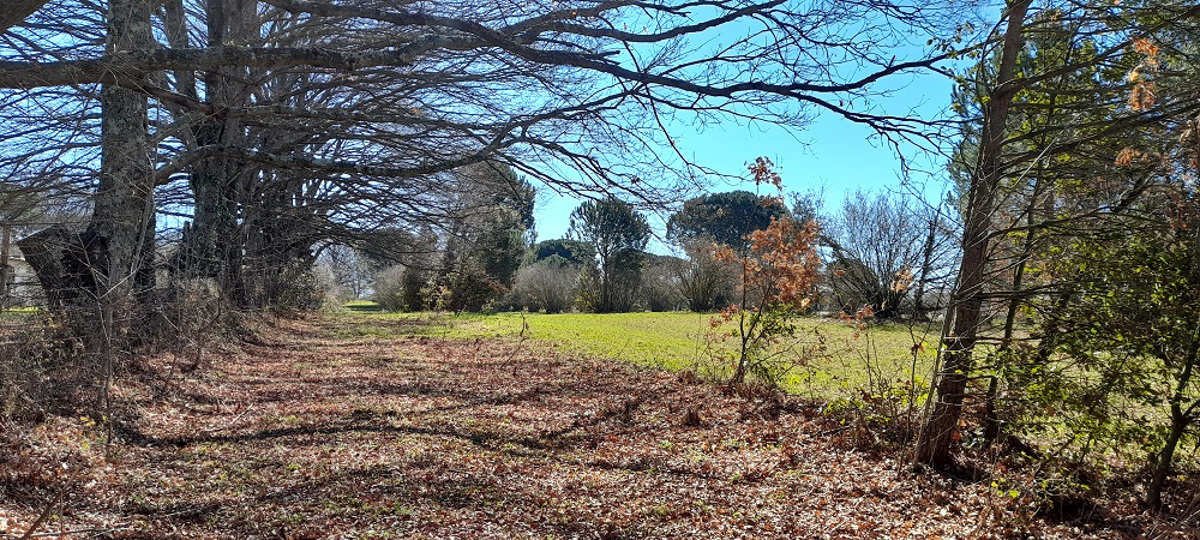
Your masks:
<instances>
[{"instance_id":1,"label":"green leafy shrub at right edge, beside the slanting trunk","mask_svg":"<svg viewBox=\"0 0 1200 540\"><path fill-rule=\"evenodd\" d=\"M1156 505L1159 475L1200 414L1198 193L1163 203L1141 221L1157 215L1157 227L1081 238L1051 265L1070 277L1069 301L1048 322L1062 358L1037 365L1044 397L1069 406L1072 427L1153 456Z\"/></svg>"}]
</instances>

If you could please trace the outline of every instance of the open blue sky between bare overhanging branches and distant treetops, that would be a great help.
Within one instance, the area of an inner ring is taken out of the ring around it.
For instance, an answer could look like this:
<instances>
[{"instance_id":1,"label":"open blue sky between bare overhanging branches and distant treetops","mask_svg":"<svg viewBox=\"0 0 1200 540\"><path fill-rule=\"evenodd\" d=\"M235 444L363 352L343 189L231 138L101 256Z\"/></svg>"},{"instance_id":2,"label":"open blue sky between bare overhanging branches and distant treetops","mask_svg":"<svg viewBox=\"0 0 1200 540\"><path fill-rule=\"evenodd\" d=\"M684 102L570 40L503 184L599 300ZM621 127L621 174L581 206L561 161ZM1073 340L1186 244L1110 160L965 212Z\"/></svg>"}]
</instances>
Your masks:
<instances>
[{"instance_id":1,"label":"open blue sky between bare overhanging branches and distant treetops","mask_svg":"<svg viewBox=\"0 0 1200 540\"><path fill-rule=\"evenodd\" d=\"M902 76L892 83L893 95L880 103L888 113L904 114L916 108L924 118L941 114L950 101L950 80L935 74ZM738 125L733 121L712 124L703 132L677 130L677 142L685 155L698 164L726 174L745 176L746 164L755 157L770 158L781 176L786 193L823 190L826 206L841 203L854 190L901 190L901 167L895 150L866 127L830 113L820 113L799 130L788 132L766 125ZM914 148L905 150L908 160L935 174L910 179L924 186L926 199L937 199L944 188L941 166ZM714 184L713 192L737 188L754 190L752 184ZM542 190L535 209L538 239L548 240L566 235L571 210L580 199ZM662 232L665 216L650 216L650 222ZM667 246L655 240L652 251L667 252Z\"/></svg>"}]
</instances>

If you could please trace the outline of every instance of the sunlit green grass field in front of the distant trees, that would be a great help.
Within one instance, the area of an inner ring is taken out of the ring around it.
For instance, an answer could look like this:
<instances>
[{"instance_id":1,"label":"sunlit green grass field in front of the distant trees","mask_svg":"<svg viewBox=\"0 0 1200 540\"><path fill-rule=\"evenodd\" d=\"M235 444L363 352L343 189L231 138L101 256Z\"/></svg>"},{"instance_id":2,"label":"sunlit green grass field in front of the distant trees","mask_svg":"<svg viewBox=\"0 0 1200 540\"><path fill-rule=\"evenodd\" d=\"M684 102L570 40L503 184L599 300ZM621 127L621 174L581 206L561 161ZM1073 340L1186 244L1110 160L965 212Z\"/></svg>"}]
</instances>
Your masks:
<instances>
[{"instance_id":1,"label":"sunlit green grass field in front of the distant trees","mask_svg":"<svg viewBox=\"0 0 1200 540\"><path fill-rule=\"evenodd\" d=\"M672 313L497 313L431 314L370 312L359 306L337 317L354 322L346 335L396 337L426 335L444 338L532 340L553 344L559 350L589 356L611 358L671 371L691 370L701 376L720 378L727 373L727 359L736 347L733 340L719 335L730 328L714 330L713 314ZM425 324L395 324L395 323ZM876 325L868 330L835 319L802 319L792 341L780 348L797 346L821 353L796 365L782 386L788 391L814 397L842 397L859 389L878 389L880 383L904 382L916 374L918 382L932 368L930 344L936 328ZM913 343L923 347L913 365ZM796 355L792 355L796 359ZM916 367L916 372L914 372Z\"/></svg>"}]
</instances>

